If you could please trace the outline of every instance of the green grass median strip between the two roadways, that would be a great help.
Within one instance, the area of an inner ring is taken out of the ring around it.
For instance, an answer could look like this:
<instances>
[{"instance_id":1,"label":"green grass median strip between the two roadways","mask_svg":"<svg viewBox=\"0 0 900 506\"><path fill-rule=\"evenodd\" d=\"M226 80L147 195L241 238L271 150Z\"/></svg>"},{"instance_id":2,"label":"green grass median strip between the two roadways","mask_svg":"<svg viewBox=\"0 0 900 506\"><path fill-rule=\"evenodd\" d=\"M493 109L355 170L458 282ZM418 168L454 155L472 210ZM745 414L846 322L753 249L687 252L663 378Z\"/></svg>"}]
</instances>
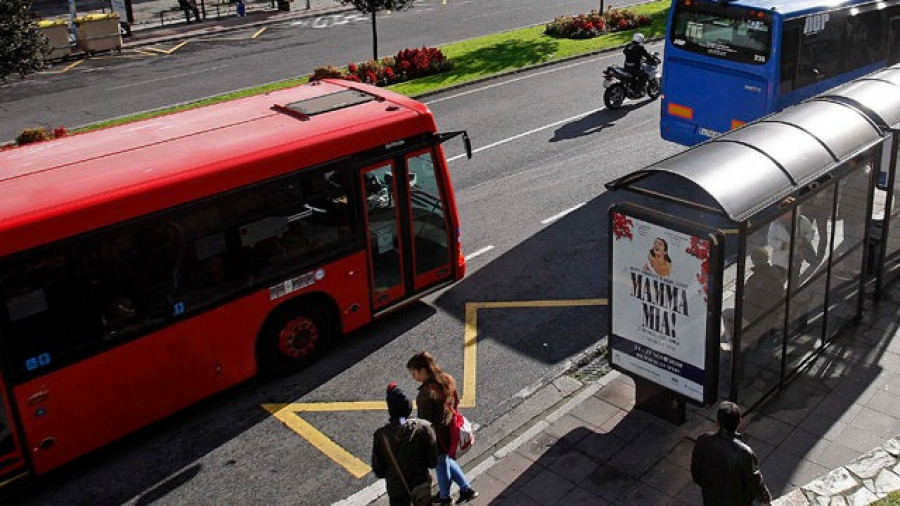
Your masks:
<instances>
[{"instance_id":1,"label":"green grass median strip between the two roadways","mask_svg":"<svg viewBox=\"0 0 900 506\"><path fill-rule=\"evenodd\" d=\"M387 86L387 89L411 97L423 97L439 91L494 79L511 72L558 63L571 58L593 55L604 50L617 48L630 41L632 35L637 31L643 33L648 40L657 39L665 35L666 16L670 4L671 2L668 0L660 0L627 6L627 9L649 17L650 25L639 29L608 33L591 39L553 38L544 34L546 23L541 23L540 25L527 28L438 46L444 55L453 62L452 70ZM172 107L92 123L70 130L69 135L131 123L141 119L162 116L251 95L268 93L304 84L308 81L309 76L300 76L245 88Z\"/></svg>"}]
</instances>

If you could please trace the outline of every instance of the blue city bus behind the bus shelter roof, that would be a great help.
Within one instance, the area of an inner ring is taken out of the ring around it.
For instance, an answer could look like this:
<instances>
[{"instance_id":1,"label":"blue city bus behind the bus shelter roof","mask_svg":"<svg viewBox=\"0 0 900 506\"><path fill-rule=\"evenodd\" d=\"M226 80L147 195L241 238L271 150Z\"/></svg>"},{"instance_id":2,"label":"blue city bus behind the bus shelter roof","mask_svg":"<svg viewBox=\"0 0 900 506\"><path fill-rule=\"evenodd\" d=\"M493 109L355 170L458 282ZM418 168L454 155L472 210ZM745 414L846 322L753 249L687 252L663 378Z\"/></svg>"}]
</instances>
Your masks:
<instances>
[{"instance_id":1,"label":"blue city bus behind the bus shelter roof","mask_svg":"<svg viewBox=\"0 0 900 506\"><path fill-rule=\"evenodd\" d=\"M660 134L703 142L900 60L900 0L673 0Z\"/></svg>"}]
</instances>

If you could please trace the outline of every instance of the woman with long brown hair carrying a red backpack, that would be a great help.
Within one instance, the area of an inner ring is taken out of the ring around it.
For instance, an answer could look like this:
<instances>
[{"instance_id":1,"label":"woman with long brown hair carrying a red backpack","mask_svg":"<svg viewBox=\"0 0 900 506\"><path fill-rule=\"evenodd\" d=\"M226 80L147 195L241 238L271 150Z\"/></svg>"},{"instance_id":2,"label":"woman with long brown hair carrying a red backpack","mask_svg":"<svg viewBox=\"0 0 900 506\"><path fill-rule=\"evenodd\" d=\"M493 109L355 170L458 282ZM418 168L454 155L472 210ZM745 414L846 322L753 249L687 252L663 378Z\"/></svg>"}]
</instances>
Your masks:
<instances>
[{"instance_id":1,"label":"woman with long brown hair carrying a red backpack","mask_svg":"<svg viewBox=\"0 0 900 506\"><path fill-rule=\"evenodd\" d=\"M450 497L452 483L459 486L456 504L478 497L478 492L472 489L462 468L455 460L457 445L453 444L451 438L451 426L456 419L456 408L459 406L456 381L438 366L434 357L427 351L413 355L406 363L406 368L409 369L412 378L421 383L419 393L416 395L419 418L431 422L437 436L438 463L434 473L438 482L438 496L435 497L435 502L453 503Z\"/></svg>"}]
</instances>

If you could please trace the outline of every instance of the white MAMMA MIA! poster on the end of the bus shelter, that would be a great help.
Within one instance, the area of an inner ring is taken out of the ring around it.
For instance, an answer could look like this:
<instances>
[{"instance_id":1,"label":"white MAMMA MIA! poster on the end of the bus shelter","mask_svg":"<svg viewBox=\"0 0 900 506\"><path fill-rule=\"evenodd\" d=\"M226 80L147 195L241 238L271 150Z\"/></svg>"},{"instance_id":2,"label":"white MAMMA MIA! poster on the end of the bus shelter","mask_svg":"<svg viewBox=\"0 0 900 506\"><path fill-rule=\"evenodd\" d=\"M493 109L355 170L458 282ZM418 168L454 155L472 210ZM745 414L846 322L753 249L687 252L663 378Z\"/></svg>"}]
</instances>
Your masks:
<instances>
[{"instance_id":1,"label":"white MAMMA MIA! poster on the end of the bus shelter","mask_svg":"<svg viewBox=\"0 0 900 506\"><path fill-rule=\"evenodd\" d=\"M711 241L611 213L610 360L704 402Z\"/></svg>"}]
</instances>

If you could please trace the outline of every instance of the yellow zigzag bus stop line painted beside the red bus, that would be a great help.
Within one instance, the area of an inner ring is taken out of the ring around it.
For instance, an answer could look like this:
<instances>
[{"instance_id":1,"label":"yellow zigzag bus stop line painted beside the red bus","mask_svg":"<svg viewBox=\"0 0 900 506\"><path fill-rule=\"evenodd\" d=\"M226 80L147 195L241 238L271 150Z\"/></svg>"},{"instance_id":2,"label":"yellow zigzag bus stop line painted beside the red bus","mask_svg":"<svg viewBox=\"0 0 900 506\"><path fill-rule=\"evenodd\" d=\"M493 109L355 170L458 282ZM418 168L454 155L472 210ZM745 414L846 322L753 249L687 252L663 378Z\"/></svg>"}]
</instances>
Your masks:
<instances>
[{"instance_id":1,"label":"yellow zigzag bus stop line painted beside the red bus","mask_svg":"<svg viewBox=\"0 0 900 506\"><path fill-rule=\"evenodd\" d=\"M533 307L605 306L607 299L530 300L506 302L466 303L465 332L463 336L463 384L461 408L475 407L475 388L478 369L478 310ZM413 402L415 407L415 402ZM299 413L324 413L347 411L386 411L384 401L294 402L287 404L263 404L262 408L280 420L289 429L307 440L326 457L346 469L356 478L369 474L372 468L335 443L328 436L300 417Z\"/></svg>"}]
</instances>

